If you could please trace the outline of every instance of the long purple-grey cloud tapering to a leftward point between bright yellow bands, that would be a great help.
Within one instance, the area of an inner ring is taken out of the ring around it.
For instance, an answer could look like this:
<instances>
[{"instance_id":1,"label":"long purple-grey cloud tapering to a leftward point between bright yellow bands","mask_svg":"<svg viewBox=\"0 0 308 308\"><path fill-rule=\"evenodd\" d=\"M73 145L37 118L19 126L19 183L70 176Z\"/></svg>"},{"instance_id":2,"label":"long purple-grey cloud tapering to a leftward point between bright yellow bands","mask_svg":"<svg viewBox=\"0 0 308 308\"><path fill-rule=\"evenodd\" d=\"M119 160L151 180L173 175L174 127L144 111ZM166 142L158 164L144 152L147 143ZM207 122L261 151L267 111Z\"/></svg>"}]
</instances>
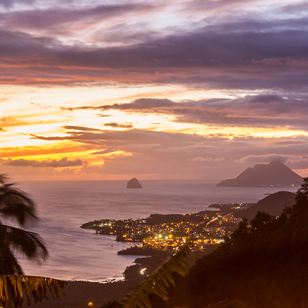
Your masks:
<instances>
[{"instance_id":1,"label":"long purple-grey cloud tapering to a leftward point between bright yellow bands","mask_svg":"<svg viewBox=\"0 0 308 308\"><path fill-rule=\"evenodd\" d=\"M121 110L174 116L175 122L216 126L271 127L308 130L306 94L257 94L230 99L175 102L143 98L131 103L82 106L75 109ZM70 108L72 110L72 108Z\"/></svg>"}]
</instances>

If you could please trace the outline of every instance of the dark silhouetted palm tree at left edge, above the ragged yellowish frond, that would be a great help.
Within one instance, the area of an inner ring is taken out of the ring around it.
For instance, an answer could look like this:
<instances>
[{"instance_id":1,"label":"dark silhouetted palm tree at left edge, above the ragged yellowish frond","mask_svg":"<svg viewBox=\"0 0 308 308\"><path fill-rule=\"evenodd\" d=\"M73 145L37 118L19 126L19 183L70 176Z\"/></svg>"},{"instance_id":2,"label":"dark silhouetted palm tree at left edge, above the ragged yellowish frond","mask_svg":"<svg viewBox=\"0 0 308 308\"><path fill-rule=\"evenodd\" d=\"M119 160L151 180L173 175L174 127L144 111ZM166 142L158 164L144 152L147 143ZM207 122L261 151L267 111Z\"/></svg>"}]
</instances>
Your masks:
<instances>
[{"instance_id":1,"label":"dark silhouetted palm tree at left edge, above the ragged yellowish frond","mask_svg":"<svg viewBox=\"0 0 308 308\"><path fill-rule=\"evenodd\" d=\"M23 229L37 220L33 200L7 180L0 174L0 275L23 275L16 255L40 261L47 259L48 252L38 234Z\"/></svg>"}]
</instances>

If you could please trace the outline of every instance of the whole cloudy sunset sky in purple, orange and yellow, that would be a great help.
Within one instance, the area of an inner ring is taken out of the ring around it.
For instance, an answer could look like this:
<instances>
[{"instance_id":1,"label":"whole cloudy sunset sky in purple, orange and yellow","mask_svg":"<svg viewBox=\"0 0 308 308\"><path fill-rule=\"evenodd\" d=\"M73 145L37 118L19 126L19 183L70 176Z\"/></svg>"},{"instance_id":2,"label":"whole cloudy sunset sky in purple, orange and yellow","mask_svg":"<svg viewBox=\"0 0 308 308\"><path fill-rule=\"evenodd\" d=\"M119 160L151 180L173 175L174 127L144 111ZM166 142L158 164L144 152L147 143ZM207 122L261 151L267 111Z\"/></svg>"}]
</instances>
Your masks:
<instances>
[{"instance_id":1,"label":"whole cloudy sunset sky in purple, orange and yellow","mask_svg":"<svg viewBox=\"0 0 308 308\"><path fill-rule=\"evenodd\" d=\"M308 176L308 1L0 0L0 173Z\"/></svg>"}]
</instances>

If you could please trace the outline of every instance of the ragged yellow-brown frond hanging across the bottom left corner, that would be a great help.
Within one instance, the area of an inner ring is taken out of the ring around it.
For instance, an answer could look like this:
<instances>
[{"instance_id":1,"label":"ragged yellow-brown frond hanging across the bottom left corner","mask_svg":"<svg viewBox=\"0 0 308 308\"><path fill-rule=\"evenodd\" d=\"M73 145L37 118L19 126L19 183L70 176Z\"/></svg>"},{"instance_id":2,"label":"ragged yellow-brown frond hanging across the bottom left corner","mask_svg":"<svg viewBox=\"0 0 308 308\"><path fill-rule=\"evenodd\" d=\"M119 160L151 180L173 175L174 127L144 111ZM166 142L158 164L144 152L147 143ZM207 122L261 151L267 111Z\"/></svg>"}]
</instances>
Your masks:
<instances>
[{"instance_id":1,"label":"ragged yellow-brown frond hanging across the bottom left corner","mask_svg":"<svg viewBox=\"0 0 308 308\"><path fill-rule=\"evenodd\" d=\"M0 306L4 308L22 307L24 298L31 304L31 295L34 302L41 302L50 294L53 298L64 293L66 281L24 275L0 276ZM49 290L49 293L48 293Z\"/></svg>"}]
</instances>

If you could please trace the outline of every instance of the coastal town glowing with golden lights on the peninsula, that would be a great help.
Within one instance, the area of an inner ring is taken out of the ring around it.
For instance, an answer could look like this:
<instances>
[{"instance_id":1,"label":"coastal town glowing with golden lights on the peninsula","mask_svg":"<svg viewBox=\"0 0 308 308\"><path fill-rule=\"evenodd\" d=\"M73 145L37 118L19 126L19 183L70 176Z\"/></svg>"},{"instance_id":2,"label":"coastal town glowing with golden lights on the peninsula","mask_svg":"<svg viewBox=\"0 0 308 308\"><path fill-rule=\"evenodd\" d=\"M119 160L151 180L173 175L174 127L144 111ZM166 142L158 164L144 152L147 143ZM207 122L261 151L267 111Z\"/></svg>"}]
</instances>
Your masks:
<instances>
[{"instance_id":1,"label":"coastal town glowing with golden lights on the peninsula","mask_svg":"<svg viewBox=\"0 0 308 308\"><path fill-rule=\"evenodd\" d=\"M117 235L117 241L134 242L161 250L174 250L188 243L192 250L204 251L206 245L220 243L232 234L241 218L233 214L252 203L211 204L217 210L195 214L152 214L145 219L102 219L85 223L81 228L95 229L95 233Z\"/></svg>"}]
</instances>

